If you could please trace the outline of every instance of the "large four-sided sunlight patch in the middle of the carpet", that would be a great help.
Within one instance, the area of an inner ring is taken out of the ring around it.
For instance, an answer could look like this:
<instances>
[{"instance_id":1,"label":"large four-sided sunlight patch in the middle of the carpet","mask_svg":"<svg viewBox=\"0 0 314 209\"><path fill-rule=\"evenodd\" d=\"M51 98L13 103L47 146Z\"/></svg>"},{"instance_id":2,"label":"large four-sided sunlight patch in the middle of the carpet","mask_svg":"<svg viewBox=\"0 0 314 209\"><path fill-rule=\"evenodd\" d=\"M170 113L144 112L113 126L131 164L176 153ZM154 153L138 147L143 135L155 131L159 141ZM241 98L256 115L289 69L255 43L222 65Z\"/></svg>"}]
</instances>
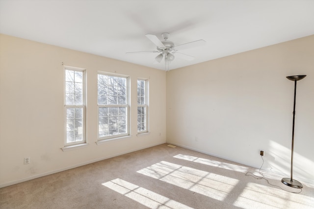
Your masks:
<instances>
[{"instance_id":1,"label":"large four-sided sunlight patch in the middle of the carpet","mask_svg":"<svg viewBox=\"0 0 314 209\"><path fill-rule=\"evenodd\" d=\"M238 183L237 179L165 161L143 168L137 173L220 201L224 200Z\"/></svg>"}]
</instances>

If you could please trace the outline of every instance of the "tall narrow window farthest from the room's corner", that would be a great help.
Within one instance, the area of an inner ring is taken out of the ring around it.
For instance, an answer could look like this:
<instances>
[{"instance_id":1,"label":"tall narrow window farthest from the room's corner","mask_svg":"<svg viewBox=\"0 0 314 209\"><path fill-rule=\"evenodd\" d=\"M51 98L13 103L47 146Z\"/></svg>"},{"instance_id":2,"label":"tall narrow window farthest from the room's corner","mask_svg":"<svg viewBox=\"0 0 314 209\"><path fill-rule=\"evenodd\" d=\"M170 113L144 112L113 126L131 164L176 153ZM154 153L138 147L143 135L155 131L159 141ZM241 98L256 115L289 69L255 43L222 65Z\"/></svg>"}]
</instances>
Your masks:
<instances>
[{"instance_id":1,"label":"tall narrow window farthest from the room's corner","mask_svg":"<svg viewBox=\"0 0 314 209\"><path fill-rule=\"evenodd\" d=\"M65 68L65 146L85 143L85 71Z\"/></svg>"}]
</instances>

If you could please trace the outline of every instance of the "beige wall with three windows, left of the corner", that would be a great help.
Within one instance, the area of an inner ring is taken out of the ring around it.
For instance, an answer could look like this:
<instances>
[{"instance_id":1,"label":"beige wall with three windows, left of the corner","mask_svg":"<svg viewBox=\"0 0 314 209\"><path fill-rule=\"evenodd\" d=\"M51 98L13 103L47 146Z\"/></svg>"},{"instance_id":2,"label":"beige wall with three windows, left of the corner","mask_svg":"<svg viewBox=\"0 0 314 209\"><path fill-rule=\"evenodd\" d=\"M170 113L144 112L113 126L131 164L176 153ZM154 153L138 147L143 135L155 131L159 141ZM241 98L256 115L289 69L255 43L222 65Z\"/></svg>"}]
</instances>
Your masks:
<instances>
[{"instance_id":1,"label":"beige wall with three windows, left of the corner","mask_svg":"<svg viewBox=\"0 0 314 209\"><path fill-rule=\"evenodd\" d=\"M87 141L63 152L63 66L86 69ZM131 137L97 145L97 71L131 78ZM149 78L150 134L137 131L136 80ZM166 73L0 35L0 186L166 142ZM159 133L161 136L159 136ZM30 157L30 164L24 158Z\"/></svg>"}]
</instances>

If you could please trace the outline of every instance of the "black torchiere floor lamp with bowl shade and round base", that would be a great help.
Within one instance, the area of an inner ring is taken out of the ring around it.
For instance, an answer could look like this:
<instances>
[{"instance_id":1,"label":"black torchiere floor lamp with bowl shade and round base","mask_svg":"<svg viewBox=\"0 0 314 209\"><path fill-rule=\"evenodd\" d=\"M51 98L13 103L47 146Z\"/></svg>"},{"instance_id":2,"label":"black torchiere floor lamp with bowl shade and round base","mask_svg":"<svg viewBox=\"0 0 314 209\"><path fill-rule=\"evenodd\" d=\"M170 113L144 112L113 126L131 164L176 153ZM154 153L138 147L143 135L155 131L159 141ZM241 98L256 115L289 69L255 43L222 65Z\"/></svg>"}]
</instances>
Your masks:
<instances>
[{"instance_id":1,"label":"black torchiere floor lamp with bowl shade and round base","mask_svg":"<svg viewBox=\"0 0 314 209\"><path fill-rule=\"evenodd\" d=\"M293 120L292 120L292 146L291 146L291 177L283 178L281 180L287 186L291 186L294 188L302 188L302 184L294 179L292 179L292 171L293 171L293 143L294 143L294 117L295 117L295 95L296 95L296 82L305 78L306 75L292 75L287 76L290 81L294 81L294 102L293 102Z\"/></svg>"}]
</instances>

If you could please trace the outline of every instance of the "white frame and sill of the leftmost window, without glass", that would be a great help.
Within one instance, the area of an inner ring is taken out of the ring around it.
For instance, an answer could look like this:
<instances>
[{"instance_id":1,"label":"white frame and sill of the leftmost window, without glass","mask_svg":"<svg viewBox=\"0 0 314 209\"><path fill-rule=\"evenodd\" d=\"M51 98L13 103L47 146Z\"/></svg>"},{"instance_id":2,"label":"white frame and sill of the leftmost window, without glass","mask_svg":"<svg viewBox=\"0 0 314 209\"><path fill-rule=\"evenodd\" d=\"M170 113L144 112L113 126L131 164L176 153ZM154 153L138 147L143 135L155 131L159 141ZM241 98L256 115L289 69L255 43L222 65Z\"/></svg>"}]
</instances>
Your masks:
<instances>
[{"instance_id":1,"label":"white frame and sill of the leftmost window, without glass","mask_svg":"<svg viewBox=\"0 0 314 209\"><path fill-rule=\"evenodd\" d=\"M75 105L66 104L66 70L71 71L79 71L82 72L82 104L81 105ZM81 68L75 68L75 67L69 67L64 66L64 148L62 148L63 151L67 151L69 149L73 149L76 147L83 147L82 145L87 145L86 143L86 69ZM67 110L70 108L82 108L82 140L74 141L74 142L67 142Z\"/></svg>"}]
</instances>

